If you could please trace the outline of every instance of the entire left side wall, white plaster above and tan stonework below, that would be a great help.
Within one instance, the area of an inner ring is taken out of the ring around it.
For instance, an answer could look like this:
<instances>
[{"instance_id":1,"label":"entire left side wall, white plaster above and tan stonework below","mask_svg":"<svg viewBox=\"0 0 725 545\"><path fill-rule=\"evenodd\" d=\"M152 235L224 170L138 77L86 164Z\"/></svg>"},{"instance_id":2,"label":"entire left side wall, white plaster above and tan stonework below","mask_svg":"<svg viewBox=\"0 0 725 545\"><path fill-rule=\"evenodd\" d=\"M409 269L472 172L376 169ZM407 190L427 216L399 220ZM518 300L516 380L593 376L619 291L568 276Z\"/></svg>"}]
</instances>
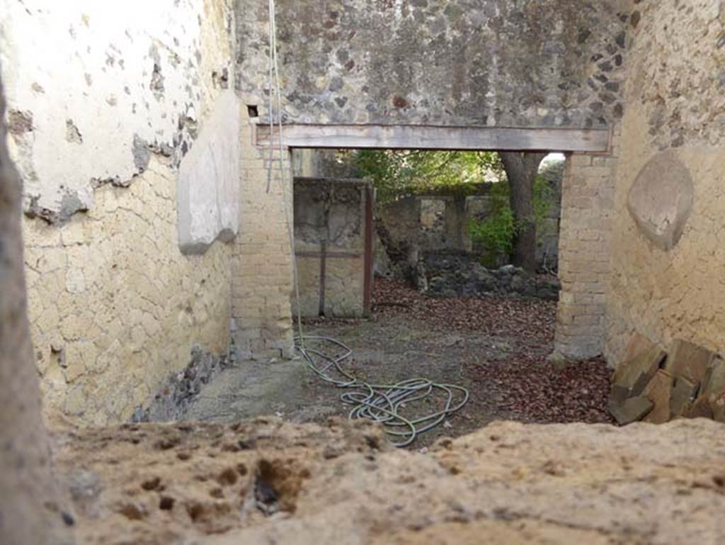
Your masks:
<instances>
[{"instance_id":1,"label":"entire left side wall, white plaster above and tan stonework below","mask_svg":"<svg viewBox=\"0 0 725 545\"><path fill-rule=\"evenodd\" d=\"M239 224L233 11L164 0L140 14L0 1L46 409L94 424L131 417L194 345L229 343L233 247L215 240Z\"/></svg>"}]
</instances>

